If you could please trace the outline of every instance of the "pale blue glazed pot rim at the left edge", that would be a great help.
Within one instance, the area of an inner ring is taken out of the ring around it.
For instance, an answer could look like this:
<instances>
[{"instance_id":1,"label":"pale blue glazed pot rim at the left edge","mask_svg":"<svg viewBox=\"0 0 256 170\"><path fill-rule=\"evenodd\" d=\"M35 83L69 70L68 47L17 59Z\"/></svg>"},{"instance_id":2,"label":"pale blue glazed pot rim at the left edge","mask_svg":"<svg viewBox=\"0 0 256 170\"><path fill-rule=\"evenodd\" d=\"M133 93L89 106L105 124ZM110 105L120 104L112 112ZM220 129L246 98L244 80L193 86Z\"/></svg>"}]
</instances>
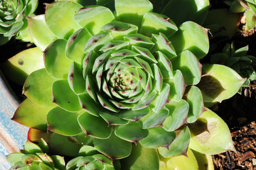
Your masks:
<instances>
[{"instance_id":1,"label":"pale blue glazed pot rim at the left edge","mask_svg":"<svg viewBox=\"0 0 256 170\"><path fill-rule=\"evenodd\" d=\"M11 120L19 104L19 100L15 98L0 70L0 169L2 170L12 166L6 160L6 155L19 152L27 141L28 127Z\"/></svg>"}]
</instances>

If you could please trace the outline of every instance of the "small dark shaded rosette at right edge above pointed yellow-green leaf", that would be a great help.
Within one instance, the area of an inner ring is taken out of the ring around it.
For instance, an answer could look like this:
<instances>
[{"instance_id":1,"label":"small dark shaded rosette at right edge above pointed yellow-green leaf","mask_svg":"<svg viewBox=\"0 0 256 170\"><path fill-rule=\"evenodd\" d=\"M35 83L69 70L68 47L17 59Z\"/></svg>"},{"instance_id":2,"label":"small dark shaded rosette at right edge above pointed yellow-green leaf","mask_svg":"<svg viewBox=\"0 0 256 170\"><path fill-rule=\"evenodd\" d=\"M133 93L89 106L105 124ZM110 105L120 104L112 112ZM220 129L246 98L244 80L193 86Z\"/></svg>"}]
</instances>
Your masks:
<instances>
[{"instance_id":1,"label":"small dark shaded rosette at right edge above pointed yellow-green leaf","mask_svg":"<svg viewBox=\"0 0 256 170\"><path fill-rule=\"evenodd\" d=\"M247 55L249 47L241 47L235 49L234 43L226 44L222 52L211 55L212 64L226 65L234 69L241 77L246 78L243 86L248 86L250 81L256 78L253 66L255 66L256 58Z\"/></svg>"}]
</instances>

